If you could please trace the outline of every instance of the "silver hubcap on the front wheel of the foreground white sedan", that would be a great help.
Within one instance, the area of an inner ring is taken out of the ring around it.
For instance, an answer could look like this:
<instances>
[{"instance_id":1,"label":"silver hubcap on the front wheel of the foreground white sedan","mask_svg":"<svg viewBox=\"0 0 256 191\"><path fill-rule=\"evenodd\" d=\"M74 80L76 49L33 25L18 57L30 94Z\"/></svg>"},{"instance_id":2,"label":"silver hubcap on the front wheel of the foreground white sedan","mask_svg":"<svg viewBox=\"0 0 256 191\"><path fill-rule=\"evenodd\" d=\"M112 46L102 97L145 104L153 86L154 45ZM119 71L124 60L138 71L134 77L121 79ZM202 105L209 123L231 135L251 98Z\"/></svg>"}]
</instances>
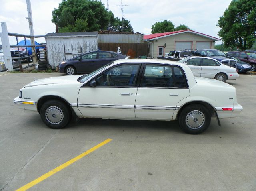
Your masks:
<instances>
[{"instance_id":1,"label":"silver hubcap on the front wheel of the foreground white sedan","mask_svg":"<svg viewBox=\"0 0 256 191\"><path fill-rule=\"evenodd\" d=\"M45 111L45 117L49 123L56 125L62 122L64 115L60 108L50 106Z\"/></svg>"}]
</instances>

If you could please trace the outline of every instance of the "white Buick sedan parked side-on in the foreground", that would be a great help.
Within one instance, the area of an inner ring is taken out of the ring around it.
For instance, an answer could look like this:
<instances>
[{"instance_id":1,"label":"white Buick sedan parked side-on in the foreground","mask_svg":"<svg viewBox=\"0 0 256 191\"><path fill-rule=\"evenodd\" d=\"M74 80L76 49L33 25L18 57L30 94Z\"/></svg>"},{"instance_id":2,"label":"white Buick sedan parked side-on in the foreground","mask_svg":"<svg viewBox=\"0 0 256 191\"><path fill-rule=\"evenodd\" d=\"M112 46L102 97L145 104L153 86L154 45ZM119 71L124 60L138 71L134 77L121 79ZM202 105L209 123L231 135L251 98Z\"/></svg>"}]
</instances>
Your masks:
<instances>
[{"instance_id":1,"label":"white Buick sedan parked side-on in the foreground","mask_svg":"<svg viewBox=\"0 0 256 191\"><path fill-rule=\"evenodd\" d=\"M117 67L126 68L114 75ZM147 74L162 67L162 74ZM123 59L89 75L33 81L14 103L38 112L50 128L64 128L71 118L178 120L189 134L208 128L211 118L235 117L242 111L236 89L221 81L195 78L187 65L174 61Z\"/></svg>"}]
</instances>

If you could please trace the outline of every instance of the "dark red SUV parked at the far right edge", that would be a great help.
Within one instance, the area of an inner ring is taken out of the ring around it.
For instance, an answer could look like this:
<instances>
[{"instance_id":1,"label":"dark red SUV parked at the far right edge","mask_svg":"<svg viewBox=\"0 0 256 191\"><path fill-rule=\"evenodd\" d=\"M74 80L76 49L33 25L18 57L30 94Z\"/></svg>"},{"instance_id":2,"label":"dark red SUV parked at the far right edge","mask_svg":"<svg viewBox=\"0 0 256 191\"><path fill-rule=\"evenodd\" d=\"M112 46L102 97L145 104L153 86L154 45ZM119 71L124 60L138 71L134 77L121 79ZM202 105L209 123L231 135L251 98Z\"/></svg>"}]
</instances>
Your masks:
<instances>
[{"instance_id":1,"label":"dark red SUV parked at the far right edge","mask_svg":"<svg viewBox=\"0 0 256 191\"><path fill-rule=\"evenodd\" d=\"M256 71L256 54L251 52L229 51L228 56L236 57L243 62L249 63L252 71Z\"/></svg>"}]
</instances>

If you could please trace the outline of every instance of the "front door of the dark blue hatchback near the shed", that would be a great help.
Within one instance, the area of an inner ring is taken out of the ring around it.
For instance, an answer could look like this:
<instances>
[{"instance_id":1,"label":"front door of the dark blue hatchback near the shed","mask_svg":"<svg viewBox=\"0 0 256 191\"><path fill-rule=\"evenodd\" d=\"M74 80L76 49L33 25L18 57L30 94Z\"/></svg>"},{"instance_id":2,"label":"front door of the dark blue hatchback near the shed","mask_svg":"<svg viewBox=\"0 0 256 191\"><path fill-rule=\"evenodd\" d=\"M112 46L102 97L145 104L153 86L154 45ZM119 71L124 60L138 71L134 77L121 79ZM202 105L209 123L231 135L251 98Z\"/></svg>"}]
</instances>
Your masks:
<instances>
[{"instance_id":1,"label":"front door of the dark blue hatchback near the shed","mask_svg":"<svg viewBox=\"0 0 256 191\"><path fill-rule=\"evenodd\" d=\"M97 52L86 53L81 56L78 60L77 73L91 73L92 71L98 69L97 67Z\"/></svg>"}]
</instances>

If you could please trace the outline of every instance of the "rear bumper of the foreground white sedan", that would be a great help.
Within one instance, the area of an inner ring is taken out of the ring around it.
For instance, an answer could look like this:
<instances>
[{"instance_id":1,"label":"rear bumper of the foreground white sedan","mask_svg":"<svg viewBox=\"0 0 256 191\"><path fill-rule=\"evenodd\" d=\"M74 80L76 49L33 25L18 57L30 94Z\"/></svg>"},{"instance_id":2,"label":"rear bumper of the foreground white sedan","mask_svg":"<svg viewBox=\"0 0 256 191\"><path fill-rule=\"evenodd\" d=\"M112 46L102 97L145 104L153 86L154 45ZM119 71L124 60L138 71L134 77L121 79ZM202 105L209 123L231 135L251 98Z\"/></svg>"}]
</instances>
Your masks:
<instances>
[{"instance_id":1,"label":"rear bumper of the foreground white sedan","mask_svg":"<svg viewBox=\"0 0 256 191\"><path fill-rule=\"evenodd\" d=\"M216 112L219 118L232 118L241 114L243 107L240 104L236 104L232 107L232 110L223 110L225 107L216 107Z\"/></svg>"}]
</instances>

